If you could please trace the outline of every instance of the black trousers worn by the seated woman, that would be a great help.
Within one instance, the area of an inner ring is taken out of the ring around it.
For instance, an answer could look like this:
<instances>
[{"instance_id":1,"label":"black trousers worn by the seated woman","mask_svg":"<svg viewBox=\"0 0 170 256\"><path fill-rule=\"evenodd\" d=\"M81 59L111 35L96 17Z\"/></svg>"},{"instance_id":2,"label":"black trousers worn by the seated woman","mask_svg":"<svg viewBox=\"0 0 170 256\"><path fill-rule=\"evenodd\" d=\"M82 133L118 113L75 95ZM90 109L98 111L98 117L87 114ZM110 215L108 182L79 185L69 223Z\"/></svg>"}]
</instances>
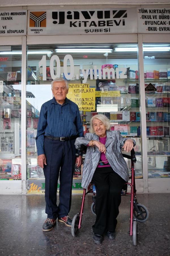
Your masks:
<instances>
[{"instance_id":1,"label":"black trousers worn by the seated woman","mask_svg":"<svg viewBox=\"0 0 170 256\"><path fill-rule=\"evenodd\" d=\"M121 202L121 190L125 180L111 167L96 168L93 179L96 187L95 213L93 225L95 234L103 235L107 231L114 232Z\"/></svg>"}]
</instances>

